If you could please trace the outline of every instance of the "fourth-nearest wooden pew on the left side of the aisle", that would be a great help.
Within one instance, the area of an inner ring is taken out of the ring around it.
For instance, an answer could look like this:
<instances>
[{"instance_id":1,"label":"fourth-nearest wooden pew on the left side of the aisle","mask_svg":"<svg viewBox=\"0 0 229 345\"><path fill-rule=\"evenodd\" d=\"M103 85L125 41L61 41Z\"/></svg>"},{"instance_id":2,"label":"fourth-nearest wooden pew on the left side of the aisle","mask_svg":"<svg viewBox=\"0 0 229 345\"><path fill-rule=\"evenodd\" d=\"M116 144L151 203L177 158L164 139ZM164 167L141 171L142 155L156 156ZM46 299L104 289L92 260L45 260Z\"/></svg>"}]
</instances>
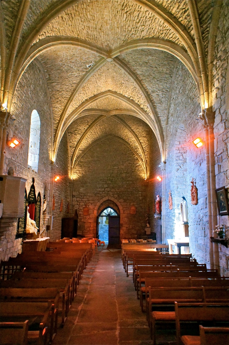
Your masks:
<instances>
[{"instance_id":1,"label":"fourth-nearest wooden pew on the left side of the aisle","mask_svg":"<svg viewBox=\"0 0 229 345\"><path fill-rule=\"evenodd\" d=\"M1 288L58 288L60 290L59 297L62 302L62 323L66 321L69 307L71 305L71 294L69 290L69 279L22 279L22 280L2 280L0 282Z\"/></svg>"}]
</instances>

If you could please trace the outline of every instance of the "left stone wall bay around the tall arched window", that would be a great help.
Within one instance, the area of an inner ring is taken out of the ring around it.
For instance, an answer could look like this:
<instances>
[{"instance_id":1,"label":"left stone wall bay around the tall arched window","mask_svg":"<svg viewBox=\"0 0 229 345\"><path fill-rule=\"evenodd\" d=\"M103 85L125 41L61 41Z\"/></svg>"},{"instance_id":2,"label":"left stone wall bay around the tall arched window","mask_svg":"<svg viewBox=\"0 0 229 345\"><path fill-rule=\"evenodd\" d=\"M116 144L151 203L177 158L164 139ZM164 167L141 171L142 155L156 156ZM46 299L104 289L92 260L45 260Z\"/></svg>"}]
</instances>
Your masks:
<instances>
[{"instance_id":1,"label":"left stone wall bay around the tall arched window","mask_svg":"<svg viewBox=\"0 0 229 345\"><path fill-rule=\"evenodd\" d=\"M14 149L6 145L6 158L4 174L13 174L27 179L26 189L29 193L32 177L35 178L36 195L41 193L41 209L43 207L44 188L48 190L47 210L49 209L49 191L51 178L51 149L52 149L52 118L49 108L49 99L45 87L43 74L36 63L32 62L21 77L13 98L11 114L16 118L10 122L7 139L17 138L20 144ZM28 167L30 121L33 110L37 110L40 122L40 153L38 172ZM61 150L61 148L60 148ZM59 168L62 161L59 162ZM66 167L65 161L63 162ZM65 198L66 199L66 198ZM66 209L66 205L64 206ZM54 215L55 224L55 215ZM43 229L43 216L41 212L40 228ZM6 232L0 234L0 257L7 260L9 256L16 256L21 252L21 239L15 240L17 224L13 224ZM60 229L59 229L60 237Z\"/></svg>"}]
</instances>

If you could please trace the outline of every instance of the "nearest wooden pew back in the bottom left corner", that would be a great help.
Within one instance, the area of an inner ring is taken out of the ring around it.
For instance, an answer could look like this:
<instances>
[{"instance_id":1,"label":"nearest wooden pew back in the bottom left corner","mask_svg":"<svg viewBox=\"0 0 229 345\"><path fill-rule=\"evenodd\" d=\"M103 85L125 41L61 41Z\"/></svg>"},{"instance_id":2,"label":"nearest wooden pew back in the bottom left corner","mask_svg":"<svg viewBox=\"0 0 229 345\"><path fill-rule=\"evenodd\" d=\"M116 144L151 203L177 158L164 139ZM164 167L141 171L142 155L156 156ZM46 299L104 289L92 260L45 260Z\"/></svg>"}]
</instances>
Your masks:
<instances>
[{"instance_id":1,"label":"nearest wooden pew back in the bottom left corner","mask_svg":"<svg viewBox=\"0 0 229 345\"><path fill-rule=\"evenodd\" d=\"M27 345L28 323L25 322L0 322L1 345Z\"/></svg>"}]
</instances>

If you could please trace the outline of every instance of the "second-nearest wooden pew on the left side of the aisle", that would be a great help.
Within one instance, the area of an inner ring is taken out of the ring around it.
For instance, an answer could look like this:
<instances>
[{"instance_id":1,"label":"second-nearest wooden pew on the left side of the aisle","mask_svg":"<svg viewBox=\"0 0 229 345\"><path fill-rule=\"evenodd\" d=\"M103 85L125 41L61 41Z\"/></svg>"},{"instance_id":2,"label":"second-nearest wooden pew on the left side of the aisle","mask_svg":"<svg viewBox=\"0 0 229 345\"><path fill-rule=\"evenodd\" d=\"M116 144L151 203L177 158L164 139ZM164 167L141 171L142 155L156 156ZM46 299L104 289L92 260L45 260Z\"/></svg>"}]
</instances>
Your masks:
<instances>
[{"instance_id":1,"label":"second-nearest wooden pew on the left side of the aisle","mask_svg":"<svg viewBox=\"0 0 229 345\"><path fill-rule=\"evenodd\" d=\"M34 322L34 317L40 317L38 331L28 331L28 338L38 339L39 344L46 344L51 319L54 320L54 305L50 302L1 302L2 322ZM30 327L29 327L30 328Z\"/></svg>"}]
</instances>

